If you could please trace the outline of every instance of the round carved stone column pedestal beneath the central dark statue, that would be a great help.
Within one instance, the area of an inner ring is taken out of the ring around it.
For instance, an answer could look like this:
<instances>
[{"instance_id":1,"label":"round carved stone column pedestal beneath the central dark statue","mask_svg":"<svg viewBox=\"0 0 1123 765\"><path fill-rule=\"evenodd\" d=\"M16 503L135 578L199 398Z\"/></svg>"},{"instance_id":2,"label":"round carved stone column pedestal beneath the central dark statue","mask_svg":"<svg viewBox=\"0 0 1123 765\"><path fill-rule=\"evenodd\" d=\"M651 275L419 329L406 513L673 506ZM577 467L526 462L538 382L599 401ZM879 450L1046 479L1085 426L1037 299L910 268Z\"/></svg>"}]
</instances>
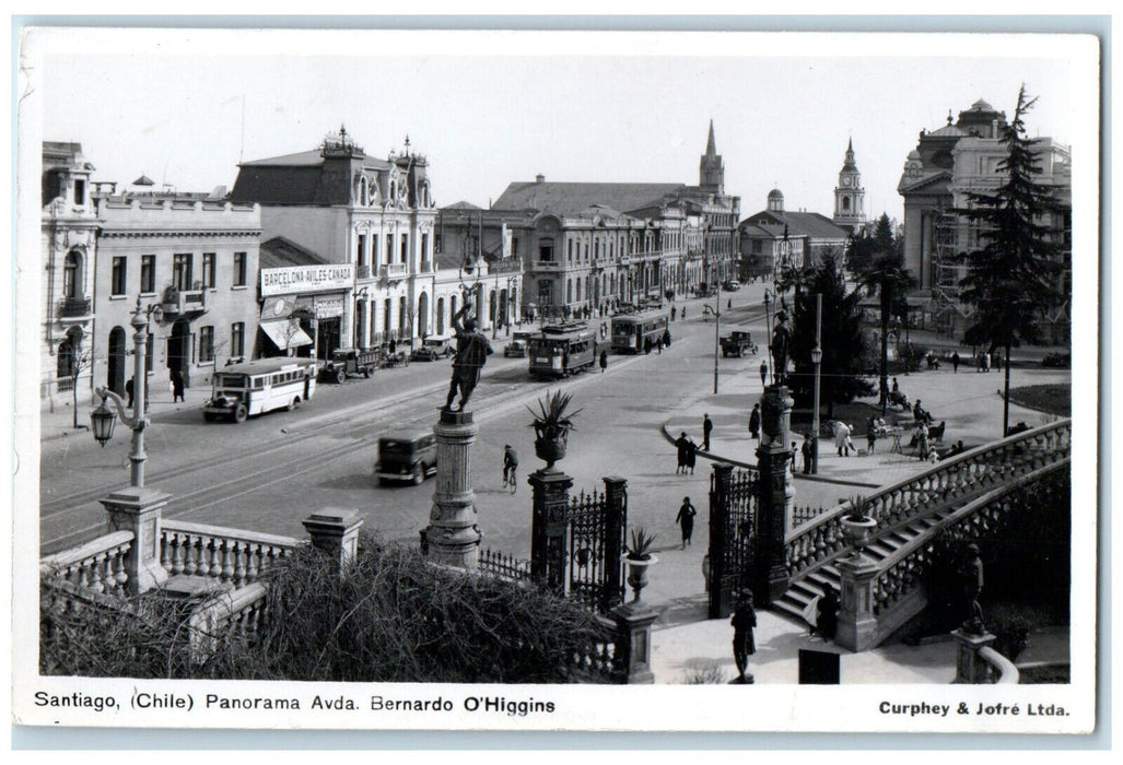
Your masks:
<instances>
[{"instance_id":1,"label":"round carved stone column pedestal beneath the central dark statue","mask_svg":"<svg viewBox=\"0 0 1123 765\"><path fill-rule=\"evenodd\" d=\"M424 540L433 563L475 570L480 565L480 531L472 490L472 444L478 428L471 412L441 411L437 436L437 489Z\"/></svg>"}]
</instances>

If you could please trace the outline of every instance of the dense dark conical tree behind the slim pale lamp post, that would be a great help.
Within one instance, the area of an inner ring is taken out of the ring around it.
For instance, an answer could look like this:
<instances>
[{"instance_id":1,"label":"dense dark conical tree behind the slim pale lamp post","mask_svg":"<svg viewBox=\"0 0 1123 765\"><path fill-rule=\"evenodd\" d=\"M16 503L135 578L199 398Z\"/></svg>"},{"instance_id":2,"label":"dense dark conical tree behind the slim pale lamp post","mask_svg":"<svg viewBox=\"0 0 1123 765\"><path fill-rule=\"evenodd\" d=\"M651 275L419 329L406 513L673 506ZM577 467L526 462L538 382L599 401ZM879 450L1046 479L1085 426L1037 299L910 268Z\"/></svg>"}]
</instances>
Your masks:
<instances>
[{"instance_id":1,"label":"dense dark conical tree behind the slim pale lamp post","mask_svg":"<svg viewBox=\"0 0 1123 765\"><path fill-rule=\"evenodd\" d=\"M795 374L788 375L788 385L800 400L811 400L815 382L811 350L815 347L815 295L819 294L823 296L820 399L830 405L868 396L874 388L862 377L865 338L859 294L847 292L846 277L837 258L824 258L810 271L810 277L795 308L792 338Z\"/></svg>"}]
</instances>

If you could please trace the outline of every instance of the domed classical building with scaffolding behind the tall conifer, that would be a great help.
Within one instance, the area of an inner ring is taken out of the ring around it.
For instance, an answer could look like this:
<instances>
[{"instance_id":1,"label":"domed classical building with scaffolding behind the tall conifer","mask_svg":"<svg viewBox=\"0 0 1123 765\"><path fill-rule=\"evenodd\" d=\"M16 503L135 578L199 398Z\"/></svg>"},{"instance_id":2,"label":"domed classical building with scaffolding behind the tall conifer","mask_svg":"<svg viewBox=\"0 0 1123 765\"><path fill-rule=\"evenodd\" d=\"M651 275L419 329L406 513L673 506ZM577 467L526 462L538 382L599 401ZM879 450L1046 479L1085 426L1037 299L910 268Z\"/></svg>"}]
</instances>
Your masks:
<instances>
[{"instance_id":1,"label":"domed classical building with scaffolding behind the tall conifer","mask_svg":"<svg viewBox=\"0 0 1123 765\"><path fill-rule=\"evenodd\" d=\"M969 193L990 193L1005 182L998 168L1007 155L1002 141L1005 126L1005 113L982 100L959 112L956 121L949 112L947 125L920 132L897 185L905 208L905 268L917 285L910 298L912 319L949 334L962 331L973 312L960 298L959 285L968 269L961 256L985 243L979 225L957 211L970 206ZM1035 153L1041 169L1035 182L1050 186L1057 202L1040 222L1062 245L1057 297L1042 306L1039 321L1048 342L1065 343L1071 302L1071 157L1068 147L1052 138L1035 139Z\"/></svg>"}]
</instances>

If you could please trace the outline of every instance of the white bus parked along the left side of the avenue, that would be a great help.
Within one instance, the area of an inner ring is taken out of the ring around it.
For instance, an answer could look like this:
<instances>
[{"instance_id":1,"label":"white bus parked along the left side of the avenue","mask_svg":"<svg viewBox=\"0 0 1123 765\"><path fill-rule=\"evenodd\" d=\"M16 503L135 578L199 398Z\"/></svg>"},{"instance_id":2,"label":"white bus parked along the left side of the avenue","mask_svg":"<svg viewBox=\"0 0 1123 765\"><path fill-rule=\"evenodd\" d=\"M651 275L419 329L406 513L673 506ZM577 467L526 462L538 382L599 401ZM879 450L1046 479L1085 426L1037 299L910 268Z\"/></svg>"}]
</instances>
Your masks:
<instances>
[{"instance_id":1,"label":"white bus parked along the left side of the avenue","mask_svg":"<svg viewBox=\"0 0 1123 765\"><path fill-rule=\"evenodd\" d=\"M230 417L236 423L272 409L292 409L316 393L316 359L258 359L214 372L203 418Z\"/></svg>"}]
</instances>

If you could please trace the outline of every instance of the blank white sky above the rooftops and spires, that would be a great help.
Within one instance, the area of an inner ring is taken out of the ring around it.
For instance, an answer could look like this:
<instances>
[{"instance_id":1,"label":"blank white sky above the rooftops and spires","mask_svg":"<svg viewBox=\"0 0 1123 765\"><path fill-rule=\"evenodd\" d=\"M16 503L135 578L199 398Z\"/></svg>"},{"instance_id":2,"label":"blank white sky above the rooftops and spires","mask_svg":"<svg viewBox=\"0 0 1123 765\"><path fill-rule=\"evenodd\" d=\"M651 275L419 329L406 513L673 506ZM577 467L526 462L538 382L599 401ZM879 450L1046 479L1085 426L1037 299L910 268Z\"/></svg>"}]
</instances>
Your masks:
<instances>
[{"instance_id":1,"label":"blank white sky above the rooftops and spires","mask_svg":"<svg viewBox=\"0 0 1123 765\"><path fill-rule=\"evenodd\" d=\"M66 30L25 36L21 136L75 141L98 181L231 186L239 159L316 148L428 156L438 205L509 183L696 184L713 120L742 218L769 190L830 215L853 141L866 212L901 218L921 129L979 100L1071 145L1089 40L994 35ZM1084 56L1084 58L1080 58ZM1081 90L1083 89L1083 90ZM1086 101L1086 99L1085 99ZM1085 112L1087 113L1087 112ZM28 145L34 145L30 142ZM1075 162L1080 147L1074 147ZM1094 148L1094 147L1088 147ZM1085 157L1088 155L1085 154Z\"/></svg>"}]
</instances>

